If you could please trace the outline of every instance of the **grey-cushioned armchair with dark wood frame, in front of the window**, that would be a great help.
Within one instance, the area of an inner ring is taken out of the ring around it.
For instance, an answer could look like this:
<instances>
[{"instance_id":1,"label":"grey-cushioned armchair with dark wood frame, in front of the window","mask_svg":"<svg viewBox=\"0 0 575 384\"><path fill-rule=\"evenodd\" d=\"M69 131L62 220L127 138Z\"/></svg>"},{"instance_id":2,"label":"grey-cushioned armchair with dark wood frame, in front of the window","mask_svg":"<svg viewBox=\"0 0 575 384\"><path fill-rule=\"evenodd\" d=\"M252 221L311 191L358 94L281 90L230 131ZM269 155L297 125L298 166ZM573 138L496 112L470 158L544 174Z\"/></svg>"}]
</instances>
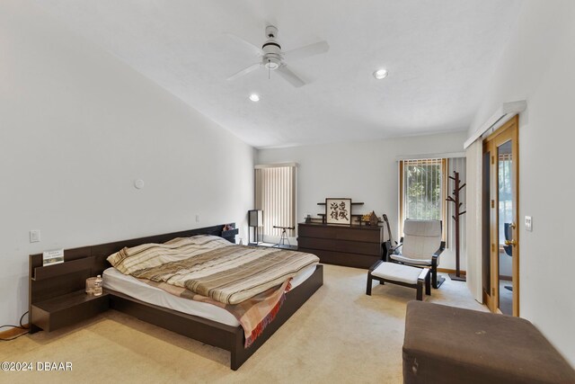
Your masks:
<instances>
[{"instance_id":1,"label":"grey-cushioned armchair with dark wood frame, in front of the window","mask_svg":"<svg viewBox=\"0 0 575 384\"><path fill-rule=\"evenodd\" d=\"M397 246L389 249L387 261L431 269L433 288L445 281L438 276L439 255L446 248L441 241L440 220L411 220L403 222L403 237Z\"/></svg>"}]
</instances>

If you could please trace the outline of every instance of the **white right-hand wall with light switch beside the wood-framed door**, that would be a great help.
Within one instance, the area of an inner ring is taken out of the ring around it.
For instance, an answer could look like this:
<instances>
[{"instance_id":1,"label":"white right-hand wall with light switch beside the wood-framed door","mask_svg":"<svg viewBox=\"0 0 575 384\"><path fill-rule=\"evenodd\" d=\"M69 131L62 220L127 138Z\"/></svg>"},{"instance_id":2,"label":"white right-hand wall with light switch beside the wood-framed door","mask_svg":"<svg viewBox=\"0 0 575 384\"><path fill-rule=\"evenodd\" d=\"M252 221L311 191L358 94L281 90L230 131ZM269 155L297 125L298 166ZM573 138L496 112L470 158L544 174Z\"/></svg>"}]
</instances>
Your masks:
<instances>
[{"instance_id":1,"label":"white right-hand wall with light switch beside the wood-framed door","mask_svg":"<svg viewBox=\"0 0 575 384\"><path fill-rule=\"evenodd\" d=\"M526 1L470 135L504 102L519 116L519 311L575 365L572 271L575 2ZM533 217L526 232L524 217Z\"/></svg>"}]
</instances>

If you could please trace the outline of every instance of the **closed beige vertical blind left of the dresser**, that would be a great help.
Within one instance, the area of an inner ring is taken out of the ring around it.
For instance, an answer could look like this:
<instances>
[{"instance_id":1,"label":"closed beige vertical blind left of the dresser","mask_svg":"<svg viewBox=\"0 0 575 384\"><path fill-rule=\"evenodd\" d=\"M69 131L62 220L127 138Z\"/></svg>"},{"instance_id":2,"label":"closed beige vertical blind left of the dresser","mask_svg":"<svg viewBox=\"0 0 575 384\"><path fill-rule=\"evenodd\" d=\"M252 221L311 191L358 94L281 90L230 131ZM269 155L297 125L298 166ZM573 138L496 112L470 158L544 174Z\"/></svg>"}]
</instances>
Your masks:
<instances>
[{"instance_id":1,"label":"closed beige vertical blind left of the dresser","mask_svg":"<svg viewBox=\"0 0 575 384\"><path fill-rule=\"evenodd\" d=\"M296 165L255 167L255 208L263 210L263 236L280 237L276 227L296 226ZM288 229L288 236L295 230Z\"/></svg>"}]
</instances>

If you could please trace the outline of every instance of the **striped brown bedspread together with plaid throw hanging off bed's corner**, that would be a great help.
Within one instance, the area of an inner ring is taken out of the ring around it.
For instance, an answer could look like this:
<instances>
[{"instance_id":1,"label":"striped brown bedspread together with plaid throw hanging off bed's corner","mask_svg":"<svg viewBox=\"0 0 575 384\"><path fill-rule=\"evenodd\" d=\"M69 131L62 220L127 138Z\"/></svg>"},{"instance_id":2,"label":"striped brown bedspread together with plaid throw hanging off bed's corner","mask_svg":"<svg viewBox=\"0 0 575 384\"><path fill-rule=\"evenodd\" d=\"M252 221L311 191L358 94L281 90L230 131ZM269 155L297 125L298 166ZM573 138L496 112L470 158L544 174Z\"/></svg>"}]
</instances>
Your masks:
<instances>
[{"instance_id":1,"label":"striped brown bedspread together with plaid throw hanging off bed's corner","mask_svg":"<svg viewBox=\"0 0 575 384\"><path fill-rule=\"evenodd\" d=\"M175 296L226 309L242 325L247 348L276 317L291 278L319 258L200 235L124 248L108 261Z\"/></svg>"}]
</instances>

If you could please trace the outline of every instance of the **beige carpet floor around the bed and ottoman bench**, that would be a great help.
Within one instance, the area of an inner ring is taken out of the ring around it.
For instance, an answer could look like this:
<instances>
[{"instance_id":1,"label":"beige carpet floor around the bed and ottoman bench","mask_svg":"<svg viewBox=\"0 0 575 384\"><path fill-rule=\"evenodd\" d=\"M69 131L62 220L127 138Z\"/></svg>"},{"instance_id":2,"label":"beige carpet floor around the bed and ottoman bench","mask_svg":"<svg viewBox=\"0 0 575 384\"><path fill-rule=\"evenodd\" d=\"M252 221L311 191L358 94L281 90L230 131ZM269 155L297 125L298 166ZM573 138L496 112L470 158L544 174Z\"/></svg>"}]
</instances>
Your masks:
<instances>
[{"instance_id":1,"label":"beige carpet floor around the bed and ottoman bench","mask_svg":"<svg viewBox=\"0 0 575 384\"><path fill-rule=\"evenodd\" d=\"M0 343L0 362L72 362L72 371L0 371L0 382L400 383L405 305L415 290L374 282L369 297L366 276L325 265L323 287L238 371L226 351L110 310ZM426 300L486 310L448 277Z\"/></svg>"}]
</instances>

